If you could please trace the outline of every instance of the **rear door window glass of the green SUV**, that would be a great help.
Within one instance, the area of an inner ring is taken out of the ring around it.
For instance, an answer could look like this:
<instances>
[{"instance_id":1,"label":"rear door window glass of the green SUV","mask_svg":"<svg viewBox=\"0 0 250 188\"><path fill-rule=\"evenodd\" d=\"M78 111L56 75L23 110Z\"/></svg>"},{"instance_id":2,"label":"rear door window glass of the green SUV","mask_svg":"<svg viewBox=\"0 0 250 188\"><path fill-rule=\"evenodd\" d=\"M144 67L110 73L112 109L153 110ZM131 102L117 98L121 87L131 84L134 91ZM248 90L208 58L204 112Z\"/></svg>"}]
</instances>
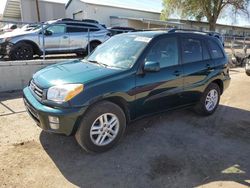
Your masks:
<instances>
[{"instance_id":1,"label":"rear door window glass of the green SUV","mask_svg":"<svg viewBox=\"0 0 250 188\"><path fill-rule=\"evenodd\" d=\"M199 39L184 38L182 39L182 57L183 63L202 61L202 42Z\"/></svg>"}]
</instances>

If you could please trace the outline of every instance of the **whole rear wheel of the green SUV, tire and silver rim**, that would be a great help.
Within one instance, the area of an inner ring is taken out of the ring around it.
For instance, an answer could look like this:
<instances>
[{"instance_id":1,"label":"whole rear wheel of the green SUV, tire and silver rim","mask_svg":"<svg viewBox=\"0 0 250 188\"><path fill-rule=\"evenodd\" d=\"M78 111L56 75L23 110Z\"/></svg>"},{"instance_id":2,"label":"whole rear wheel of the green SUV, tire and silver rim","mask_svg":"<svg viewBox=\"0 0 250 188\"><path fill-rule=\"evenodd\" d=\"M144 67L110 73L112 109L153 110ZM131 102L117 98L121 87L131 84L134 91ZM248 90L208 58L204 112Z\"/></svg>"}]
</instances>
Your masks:
<instances>
[{"instance_id":1,"label":"whole rear wheel of the green SUV, tire and silver rim","mask_svg":"<svg viewBox=\"0 0 250 188\"><path fill-rule=\"evenodd\" d=\"M221 91L216 83L211 83L206 88L200 101L195 106L195 111L201 115L211 115L217 109L220 102Z\"/></svg>"}]
</instances>

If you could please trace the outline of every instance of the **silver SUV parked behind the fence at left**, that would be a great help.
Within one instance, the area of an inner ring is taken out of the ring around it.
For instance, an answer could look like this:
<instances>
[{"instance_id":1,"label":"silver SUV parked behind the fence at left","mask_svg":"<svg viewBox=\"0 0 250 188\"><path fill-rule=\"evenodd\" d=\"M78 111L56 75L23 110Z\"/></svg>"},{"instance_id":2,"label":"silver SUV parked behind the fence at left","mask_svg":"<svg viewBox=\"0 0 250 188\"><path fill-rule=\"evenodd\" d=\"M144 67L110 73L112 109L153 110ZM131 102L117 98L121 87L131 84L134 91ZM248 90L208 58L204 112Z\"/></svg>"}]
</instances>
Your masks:
<instances>
[{"instance_id":1,"label":"silver SUV parked behind the fence at left","mask_svg":"<svg viewBox=\"0 0 250 188\"><path fill-rule=\"evenodd\" d=\"M101 24L59 19L30 31L18 30L0 35L0 55L8 55L12 60L27 60L42 55L43 49L45 54L80 55L92 51L109 38L110 32Z\"/></svg>"}]
</instances>

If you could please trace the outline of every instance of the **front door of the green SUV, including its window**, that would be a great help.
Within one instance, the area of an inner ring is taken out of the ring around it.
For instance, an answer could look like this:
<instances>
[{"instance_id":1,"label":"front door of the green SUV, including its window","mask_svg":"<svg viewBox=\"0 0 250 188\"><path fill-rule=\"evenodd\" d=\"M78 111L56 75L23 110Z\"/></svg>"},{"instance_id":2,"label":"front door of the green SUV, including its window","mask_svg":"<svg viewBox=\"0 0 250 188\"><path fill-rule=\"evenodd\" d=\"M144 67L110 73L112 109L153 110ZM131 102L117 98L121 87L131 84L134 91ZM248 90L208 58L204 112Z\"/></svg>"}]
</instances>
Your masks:
<instances>
[{"instance_id":1,"label":"front door of the green SUV, including its window","mask_svg":"<svg viewBox=\"0 0 250 188\"><path fill-rule=\"evenodd\" d=\"M145 72L136 77L137 116L171 109L181 105L182 66L177 37L161 37L151 45L145 62L159 62L160 71Z\"/></svg>"}]
</instances>

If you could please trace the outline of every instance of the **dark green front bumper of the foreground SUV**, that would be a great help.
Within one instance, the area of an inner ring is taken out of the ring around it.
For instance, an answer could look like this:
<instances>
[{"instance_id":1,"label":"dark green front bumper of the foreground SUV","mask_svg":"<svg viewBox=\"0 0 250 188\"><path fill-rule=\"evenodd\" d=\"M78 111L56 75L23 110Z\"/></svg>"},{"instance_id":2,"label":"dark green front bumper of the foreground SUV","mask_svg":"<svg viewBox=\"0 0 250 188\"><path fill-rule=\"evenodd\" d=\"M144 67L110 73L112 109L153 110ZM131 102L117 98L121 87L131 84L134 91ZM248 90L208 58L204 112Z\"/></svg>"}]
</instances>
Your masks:
<instances>
[{"instance_id":1,"label":"dark green front bumper of the foreground SUV","mask_svg":"<svg viewBox=\"0 0 250 188\"><path fill-rule=\"evenodd\" d=\"M27 112L37 125L45 131L71 135L77 128L77 120L84 114L87 107L83 108L52 108L41 104L33 96L28 87L23 90L23 99ZM59 128L52 129L48 117L54 116L59 118Z\"/></svg>"}]
</instances>

